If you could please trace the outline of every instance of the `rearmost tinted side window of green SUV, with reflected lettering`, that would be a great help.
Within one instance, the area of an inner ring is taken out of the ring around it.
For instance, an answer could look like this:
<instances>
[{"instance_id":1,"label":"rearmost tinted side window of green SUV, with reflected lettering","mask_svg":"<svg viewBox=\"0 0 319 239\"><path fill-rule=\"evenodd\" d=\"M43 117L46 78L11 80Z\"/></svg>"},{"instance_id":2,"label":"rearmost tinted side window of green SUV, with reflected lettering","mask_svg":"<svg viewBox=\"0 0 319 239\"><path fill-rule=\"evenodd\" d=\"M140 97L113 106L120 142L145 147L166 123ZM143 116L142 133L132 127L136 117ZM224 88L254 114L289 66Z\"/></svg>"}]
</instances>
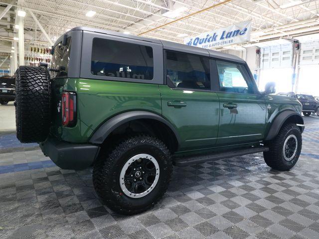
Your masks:
<instances>
[{"instance_id":1,"label":"rearmost tinted side window of green SUV, with reflected lettering","mask_svg":"<svg viewBox=\"0 0 319 239\"><path fill-rule=\"evenodd\" d=\"M153 49L150 46L102 38L93 39L93 75L152 80L153 62Z\"/></svg>"}]
</instances>

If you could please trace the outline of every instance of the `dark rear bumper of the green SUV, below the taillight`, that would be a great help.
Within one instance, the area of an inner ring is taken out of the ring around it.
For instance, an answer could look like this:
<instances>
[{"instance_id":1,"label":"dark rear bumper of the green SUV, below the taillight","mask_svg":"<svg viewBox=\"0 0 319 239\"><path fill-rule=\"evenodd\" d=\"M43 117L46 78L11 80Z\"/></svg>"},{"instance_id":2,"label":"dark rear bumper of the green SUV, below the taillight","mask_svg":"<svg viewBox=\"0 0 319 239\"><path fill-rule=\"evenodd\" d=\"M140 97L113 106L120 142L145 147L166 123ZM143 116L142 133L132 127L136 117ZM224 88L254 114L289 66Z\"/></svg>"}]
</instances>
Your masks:
<instances>
[{"instance_id":1,"label":"dark rear bumper of the green SUV, below the taillight","mask_svg":"<svg viewBox=\"0 0 319 239\"><path fill-rule=\"evenodd\" d=\"M100 147L92 144L73 144L49 137L40 143L42 152L62 169L81 170L90 167Z\"/></svg>"}]
</instances>

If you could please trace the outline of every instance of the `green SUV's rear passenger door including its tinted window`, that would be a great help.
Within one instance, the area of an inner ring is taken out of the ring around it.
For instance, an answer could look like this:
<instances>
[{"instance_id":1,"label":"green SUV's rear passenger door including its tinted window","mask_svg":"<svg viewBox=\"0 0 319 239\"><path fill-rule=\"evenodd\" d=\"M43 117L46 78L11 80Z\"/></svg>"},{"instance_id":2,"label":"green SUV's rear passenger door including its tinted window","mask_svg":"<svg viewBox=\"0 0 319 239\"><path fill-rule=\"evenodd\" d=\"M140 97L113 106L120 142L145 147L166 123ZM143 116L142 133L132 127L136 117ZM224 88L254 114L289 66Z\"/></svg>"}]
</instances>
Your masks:
<instances>
[{"instance_id":1,"label":"green SUV's rear passenger door including its tinted window","mask_svg":"<svg viewBox=\"0 0 319 239\"><path fill-rule=\"evenodd\" d=\"M160 85L162 115L176 127L180 149L214 146L219 100L211 91L209 58L166 51L164 62L167 84Z\"/></svg>"}]
</instances>

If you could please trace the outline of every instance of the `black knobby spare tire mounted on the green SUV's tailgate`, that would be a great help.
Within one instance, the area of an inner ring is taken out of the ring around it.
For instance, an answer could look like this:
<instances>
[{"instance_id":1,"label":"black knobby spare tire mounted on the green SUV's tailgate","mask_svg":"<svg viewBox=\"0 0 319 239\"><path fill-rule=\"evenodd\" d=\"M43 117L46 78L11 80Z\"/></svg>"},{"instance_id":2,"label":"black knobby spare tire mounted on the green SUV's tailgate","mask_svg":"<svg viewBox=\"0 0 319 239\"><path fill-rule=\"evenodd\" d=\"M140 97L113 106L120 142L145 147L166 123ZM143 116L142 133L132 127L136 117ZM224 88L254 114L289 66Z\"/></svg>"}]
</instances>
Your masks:
<instances>
[{"instance_id":1,"label":"black knobby spare tire mounted on the green SUV's tailgate","mask_svg":"<svg viewBox=\"0 0 319 239\"><path fill-rule=\"evenodd\" d=\"M16 137L22 143L42 142L51 122L51 85L45 67L20 66L16 72Z\"/></svg>"}]
</instances>

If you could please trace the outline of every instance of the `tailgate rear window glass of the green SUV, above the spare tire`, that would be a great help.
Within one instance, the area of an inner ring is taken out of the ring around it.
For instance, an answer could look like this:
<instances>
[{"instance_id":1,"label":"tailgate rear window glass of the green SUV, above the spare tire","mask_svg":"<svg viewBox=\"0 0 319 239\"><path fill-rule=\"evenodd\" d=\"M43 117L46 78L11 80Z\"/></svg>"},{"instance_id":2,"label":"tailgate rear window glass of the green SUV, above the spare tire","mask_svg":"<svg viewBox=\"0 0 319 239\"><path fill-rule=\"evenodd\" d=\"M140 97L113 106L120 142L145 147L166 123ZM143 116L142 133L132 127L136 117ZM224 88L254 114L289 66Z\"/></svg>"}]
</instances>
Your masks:
<instances>
[{"instance_id":1,"label":"tailgate rear window glass of the green SUV, above the spare tire","mask_svg":"<svg viewBox=\"0 0 319 239\"><path fill-rule=\"evenodd\" d=\"M50 71L51 78L67 77L71 52L71 37L66 40L66 45L62 45L62 41L54 47L51 68L55 71Z\"/></svg>"}]
</instances>

